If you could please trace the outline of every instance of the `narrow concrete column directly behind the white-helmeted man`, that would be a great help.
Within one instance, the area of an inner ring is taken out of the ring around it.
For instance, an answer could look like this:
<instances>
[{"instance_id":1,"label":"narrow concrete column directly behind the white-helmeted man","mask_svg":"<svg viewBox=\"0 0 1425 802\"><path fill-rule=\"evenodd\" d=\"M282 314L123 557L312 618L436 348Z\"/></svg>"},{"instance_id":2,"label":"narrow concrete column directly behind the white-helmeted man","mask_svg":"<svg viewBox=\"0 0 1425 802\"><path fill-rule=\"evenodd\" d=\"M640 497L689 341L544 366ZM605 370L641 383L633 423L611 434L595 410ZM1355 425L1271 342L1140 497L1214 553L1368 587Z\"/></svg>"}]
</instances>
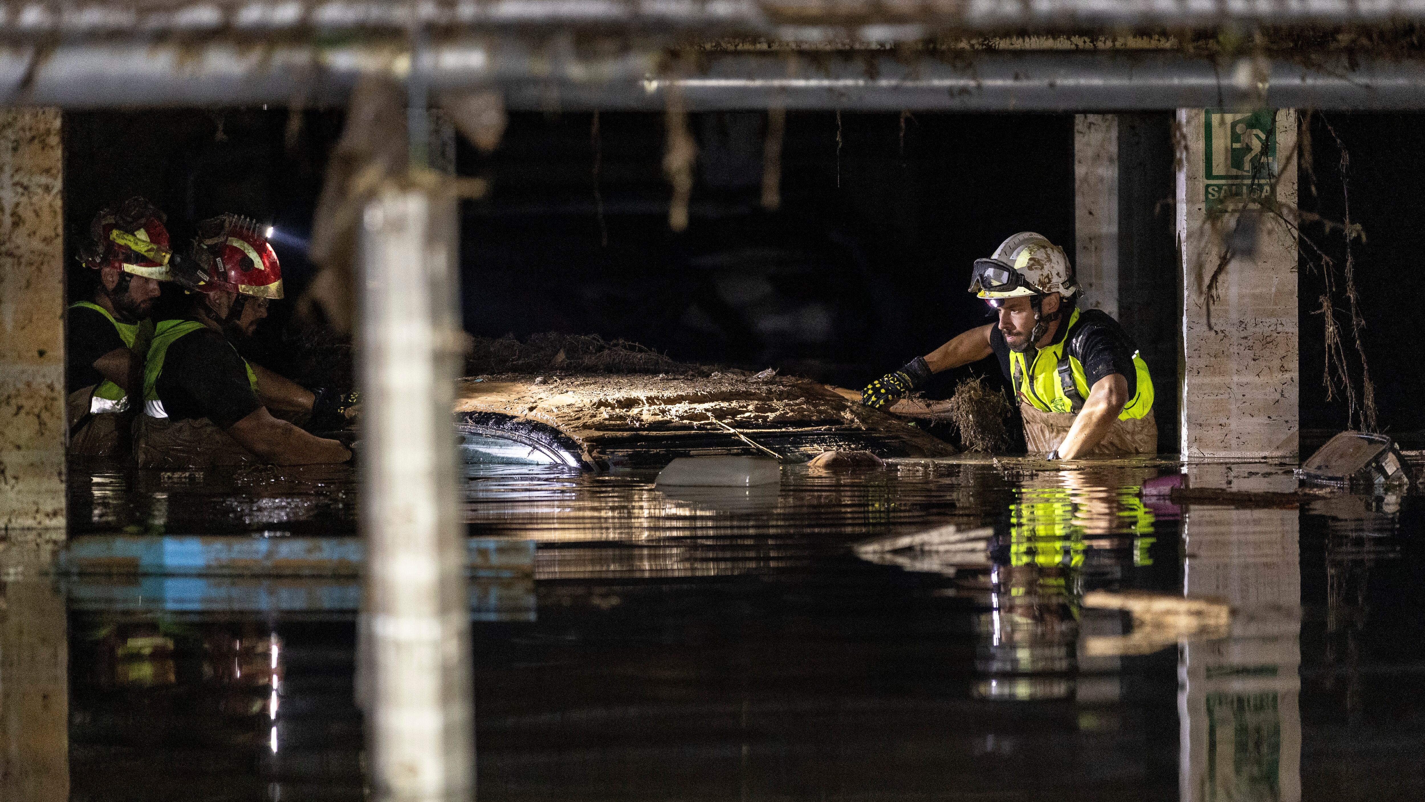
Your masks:
<instances>
[{"instance_id":1,"label":"narrow concrete column directly behind the white-helmeted man","mask_svg":"<svg viewBox=\"0 0 1425 802\"><path fill-rule=\"evenodd\" d=\"M1073 118L1074 269L1082 309L1119 316L1119 117Z\"/></svg>"}]
</instances>

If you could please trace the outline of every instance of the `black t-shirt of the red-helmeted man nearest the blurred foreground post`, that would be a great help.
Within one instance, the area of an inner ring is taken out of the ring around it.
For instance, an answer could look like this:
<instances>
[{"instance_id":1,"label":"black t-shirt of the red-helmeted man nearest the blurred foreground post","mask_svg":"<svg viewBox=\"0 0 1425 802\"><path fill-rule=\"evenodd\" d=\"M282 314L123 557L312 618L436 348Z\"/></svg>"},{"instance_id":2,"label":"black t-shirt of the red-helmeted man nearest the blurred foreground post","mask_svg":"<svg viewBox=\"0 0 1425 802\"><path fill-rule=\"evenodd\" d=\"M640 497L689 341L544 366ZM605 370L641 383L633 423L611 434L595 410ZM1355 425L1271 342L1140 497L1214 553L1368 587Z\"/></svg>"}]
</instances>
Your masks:
<instances>
[{"instance_id":1,"label":"black t-shirt of the red-helmeted man nearest the blurred foreground post","mask_svg":"<svg viewBox=\"0 0 1425 802\"><path fill-rule=\"evenodd\" d=\"M198 329L168 346L155 383L170 420L207 417L227 429L262 406L247 363L221 332Z\"/></svg>"}]
</instances>

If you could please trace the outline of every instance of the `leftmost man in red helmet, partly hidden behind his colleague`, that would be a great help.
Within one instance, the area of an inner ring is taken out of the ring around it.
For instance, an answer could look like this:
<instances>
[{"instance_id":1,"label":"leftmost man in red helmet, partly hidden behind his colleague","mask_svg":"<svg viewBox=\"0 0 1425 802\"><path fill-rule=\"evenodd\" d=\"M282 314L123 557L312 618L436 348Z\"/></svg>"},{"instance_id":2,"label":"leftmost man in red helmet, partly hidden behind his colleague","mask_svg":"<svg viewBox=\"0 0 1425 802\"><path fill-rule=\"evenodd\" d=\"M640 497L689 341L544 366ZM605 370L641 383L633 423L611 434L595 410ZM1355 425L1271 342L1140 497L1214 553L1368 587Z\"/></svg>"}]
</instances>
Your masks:
<instances>
[{"instance_id":1,"label":"leftmost man in red helmet, partly hidden behind his colleague","mask_svg":"<svg viewBox=\"0 0 1425 802\"><path fill-rule=\"evenodd\" d=\"M70 306L66 390L70 453L118 457L128 452L130 390L138 387L152 336L158 282L172 281L164 212L133 197L90 225L80 262L94 271L87 301Z\"/></svg>"}]
</instances>

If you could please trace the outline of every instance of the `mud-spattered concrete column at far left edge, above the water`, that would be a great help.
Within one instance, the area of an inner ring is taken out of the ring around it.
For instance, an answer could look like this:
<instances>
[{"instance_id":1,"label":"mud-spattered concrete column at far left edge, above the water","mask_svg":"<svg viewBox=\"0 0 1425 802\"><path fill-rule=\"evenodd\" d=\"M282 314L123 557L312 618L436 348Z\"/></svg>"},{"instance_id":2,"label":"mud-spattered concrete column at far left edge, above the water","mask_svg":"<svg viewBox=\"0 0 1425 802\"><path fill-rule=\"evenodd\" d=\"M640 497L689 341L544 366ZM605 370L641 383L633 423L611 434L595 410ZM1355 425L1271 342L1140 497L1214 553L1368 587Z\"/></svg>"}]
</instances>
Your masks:
<instances>
[{"instance_id":1,"label":"mud-spattered concrete column at far left edge, above the water","mask_svg":"<svg viewBox=\"0 0 1425 802\"><path fill-rule=\"evenodd\" d=\"M64 537L64 214L57 108L0 110L0 531Z\"/></svg>"}]
</instances>

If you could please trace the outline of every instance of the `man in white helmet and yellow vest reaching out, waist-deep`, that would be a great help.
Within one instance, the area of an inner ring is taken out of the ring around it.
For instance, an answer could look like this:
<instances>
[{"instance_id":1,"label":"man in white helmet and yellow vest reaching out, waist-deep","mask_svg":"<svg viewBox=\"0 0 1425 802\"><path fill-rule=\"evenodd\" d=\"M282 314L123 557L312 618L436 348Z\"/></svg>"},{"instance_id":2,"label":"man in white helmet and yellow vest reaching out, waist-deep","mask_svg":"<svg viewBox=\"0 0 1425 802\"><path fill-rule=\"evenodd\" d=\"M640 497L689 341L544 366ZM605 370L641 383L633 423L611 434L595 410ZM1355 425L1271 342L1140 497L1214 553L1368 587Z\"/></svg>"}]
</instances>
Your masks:
<instances>
[{"instance_id":1,"label":"man in white helmet and yellow vest reaching out, waist-deep","mask_svg":"<svg viewBox=\"0 0 1425 802\"><path fill-rule=\"evenodd\" d=\"M1157 450L1149 368L1117 321L1077 308L1079 285L1063 248L1032 231L1016 234L975 261L970 292L999 322L876 379L861 403L886 407L933 373L995 355L1019 397L1030 453L1083 459Z\"/></svg>"}]
</instances>

